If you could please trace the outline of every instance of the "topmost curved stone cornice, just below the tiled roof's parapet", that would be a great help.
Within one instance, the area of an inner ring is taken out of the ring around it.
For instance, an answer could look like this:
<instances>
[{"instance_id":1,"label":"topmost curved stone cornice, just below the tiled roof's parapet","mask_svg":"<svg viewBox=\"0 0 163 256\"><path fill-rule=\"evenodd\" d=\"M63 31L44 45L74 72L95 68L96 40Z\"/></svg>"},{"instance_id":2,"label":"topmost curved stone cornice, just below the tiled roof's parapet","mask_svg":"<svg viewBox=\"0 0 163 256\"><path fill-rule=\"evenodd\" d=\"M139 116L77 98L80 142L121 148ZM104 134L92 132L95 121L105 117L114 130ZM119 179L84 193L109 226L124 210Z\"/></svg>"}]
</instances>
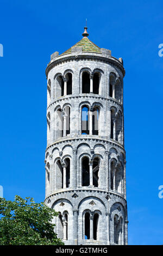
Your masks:
<instances>
[{"instance_id":1,"label":"topmost curved stone cornice, just below the tiled roof's parapet","mask_svg":"<svg viewBox=\"0 0 163 256\"><path fill-rule=\"evenodd\" d=\"M123 74L123 77L125 76L125 69L123 68L123 65L121 64L121 62L119 60L117 60L114 57L111 58L106 58L106 57L102 57L102 56L95 56L95 55L78 55L76 56L66 56L60 59L55 59L53 62L50 62L46 68L46 76L48 75L48 72L54 68L54 66L57 66L63 62L70 62L73 60L93 60L93 61L98 61L98 62L104 62L104 63L108 63L108 64L112 64L117 66L117 68L119 68Z\"/></svg>"}]
</instances>

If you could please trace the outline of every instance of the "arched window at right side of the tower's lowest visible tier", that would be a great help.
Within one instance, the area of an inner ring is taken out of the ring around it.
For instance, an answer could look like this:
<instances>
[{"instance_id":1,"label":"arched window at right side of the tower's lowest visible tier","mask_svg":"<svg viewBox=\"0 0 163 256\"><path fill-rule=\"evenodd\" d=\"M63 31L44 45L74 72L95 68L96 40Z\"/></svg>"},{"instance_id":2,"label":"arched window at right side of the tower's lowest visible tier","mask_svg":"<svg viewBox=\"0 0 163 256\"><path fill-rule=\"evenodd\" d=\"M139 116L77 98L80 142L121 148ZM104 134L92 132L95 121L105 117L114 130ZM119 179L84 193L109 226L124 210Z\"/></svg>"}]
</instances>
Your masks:
<instances>
[{"instance_id":1,"label":"arched window at right side of the tower's lowest visible tier","mask_svg":"<svg viewBox=\"0 0 163 256\"><path fill-rule=\"evenodd\" d=\"M122 217L118 220L118 215L114 216L114 242L121 245L122 236Z\"/></svg>"}]
</instances>

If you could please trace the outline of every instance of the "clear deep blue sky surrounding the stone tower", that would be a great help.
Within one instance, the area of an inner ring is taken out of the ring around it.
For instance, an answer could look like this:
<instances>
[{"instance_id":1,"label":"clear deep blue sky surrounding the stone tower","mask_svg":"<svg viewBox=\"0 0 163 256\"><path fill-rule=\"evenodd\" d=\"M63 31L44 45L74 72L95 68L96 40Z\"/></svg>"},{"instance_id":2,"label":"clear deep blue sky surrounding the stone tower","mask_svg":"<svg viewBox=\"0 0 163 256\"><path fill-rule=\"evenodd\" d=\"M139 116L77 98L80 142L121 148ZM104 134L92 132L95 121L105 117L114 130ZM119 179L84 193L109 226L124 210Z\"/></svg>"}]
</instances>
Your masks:
<instances>
[{"instance_id":1,"label":"clear deep blue sky surrounding the stone tower","mask_svg":"<svg viewBox=\"0 0 163 256\"><path fill-rule=\"evenodd\" d=\"M0 0L1 176L4 197L45 198L46 76L50 54L89 38L124 60L130 245L163 244L163 2Z\"/></svg>"}]
</instances>

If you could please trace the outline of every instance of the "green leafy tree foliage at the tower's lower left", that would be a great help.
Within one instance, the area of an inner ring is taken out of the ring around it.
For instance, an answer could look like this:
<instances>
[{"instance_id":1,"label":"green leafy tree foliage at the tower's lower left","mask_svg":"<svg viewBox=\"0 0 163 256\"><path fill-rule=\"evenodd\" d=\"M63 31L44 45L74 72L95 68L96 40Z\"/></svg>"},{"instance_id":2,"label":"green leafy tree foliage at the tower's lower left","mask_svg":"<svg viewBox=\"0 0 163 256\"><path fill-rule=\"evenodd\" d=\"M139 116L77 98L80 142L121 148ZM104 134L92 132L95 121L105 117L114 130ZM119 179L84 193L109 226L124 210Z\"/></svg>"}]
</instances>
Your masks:
<instances>
[{"instance_id":1,"label":"green leafy tree foliage at the tower's lower left","mask_svg":"<svg viewBox=\"0 0 163 256\"><path fill-rule=\"evenodd\" d=\"M57 212L33 198L0 198L0 245L64 245L54 233Z\"/></svg>"}]
</instances>

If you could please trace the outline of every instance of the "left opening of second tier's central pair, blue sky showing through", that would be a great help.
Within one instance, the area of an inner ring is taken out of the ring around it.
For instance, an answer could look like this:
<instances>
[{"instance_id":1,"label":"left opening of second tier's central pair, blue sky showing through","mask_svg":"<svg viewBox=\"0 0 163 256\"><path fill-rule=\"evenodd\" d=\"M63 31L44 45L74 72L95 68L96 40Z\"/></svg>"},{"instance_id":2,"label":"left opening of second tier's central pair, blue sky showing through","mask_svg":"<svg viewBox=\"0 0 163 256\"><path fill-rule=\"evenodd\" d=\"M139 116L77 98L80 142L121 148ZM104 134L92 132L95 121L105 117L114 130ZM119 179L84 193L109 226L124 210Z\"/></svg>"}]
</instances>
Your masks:
<instances>
[{"instance_id":1,"label":"left opening of second tier's central pair, blue sky showing through","mask_svg":"<svg viewBox=\"0 0 163 256\"><path fill-rule=\"evenodd\" d=\"M89 108L87 106L82 107L82 134L90 134L90 118L89 118Z\"/></svg>"}]
</instances>

